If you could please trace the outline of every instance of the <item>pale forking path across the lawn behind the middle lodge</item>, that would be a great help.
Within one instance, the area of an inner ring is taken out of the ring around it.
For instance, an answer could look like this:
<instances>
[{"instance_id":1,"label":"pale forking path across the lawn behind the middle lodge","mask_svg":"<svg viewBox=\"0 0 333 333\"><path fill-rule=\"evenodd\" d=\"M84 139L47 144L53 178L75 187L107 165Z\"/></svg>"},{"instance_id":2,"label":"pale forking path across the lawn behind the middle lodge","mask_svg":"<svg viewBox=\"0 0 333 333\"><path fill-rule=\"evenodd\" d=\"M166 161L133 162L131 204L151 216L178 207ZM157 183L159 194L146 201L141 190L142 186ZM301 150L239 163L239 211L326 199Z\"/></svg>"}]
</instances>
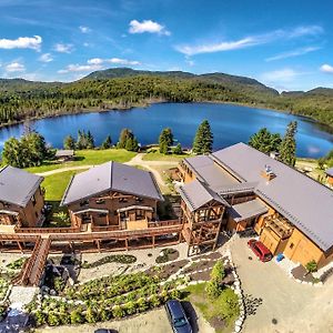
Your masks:
<instances>
[{"instance_id":1,"label":"pale forking path across the lawn behind the middle lodge","mask_svg":"<svg viewBox=\"0 0 333 333\"><path fill-rule=\"evenodd\" d=\"M164 186L165 182L163 180L163 178L161 176L160 172L158 170L155 170L153 167L167 167L167 165L178 165L178 161L144 161L142 160L142 158L144 157L144 153L139 153L137 154L133 159L131 159L128 162L124 162L123 164L127 165L140 165L143 167L144 169L149 170L157 179L157 182L161 185ZM37 173L38 175L42 175L42 176L48 176L48 175L52 175L52 174L57 174L57 173L62 173L65 171L74 171L74 170L87 170L90 168L93 168L95 165L77 165L77 167L65 167L65 168L60 168L60 169L54 169L54 170L50 170L50 171L46 171L46 172L40 172Z\"/></svg>"}]
</instances>

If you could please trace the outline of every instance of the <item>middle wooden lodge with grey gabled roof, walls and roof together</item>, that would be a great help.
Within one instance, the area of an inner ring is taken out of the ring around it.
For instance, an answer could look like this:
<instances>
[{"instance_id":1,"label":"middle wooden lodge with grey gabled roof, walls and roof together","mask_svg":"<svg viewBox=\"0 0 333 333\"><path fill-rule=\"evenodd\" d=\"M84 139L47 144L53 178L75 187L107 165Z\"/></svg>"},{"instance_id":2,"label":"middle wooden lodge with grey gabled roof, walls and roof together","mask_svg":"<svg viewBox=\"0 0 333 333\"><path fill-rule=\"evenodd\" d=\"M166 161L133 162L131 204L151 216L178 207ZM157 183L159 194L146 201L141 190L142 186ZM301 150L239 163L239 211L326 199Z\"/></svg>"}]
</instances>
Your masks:
<instances>
[{"instance_id":1,"label":"middle wooden lodge with grey gabled roof, walls and roof together","mask_svg":"<svg viewBox=\"0 0 333 333\"><path fill-rule=\"evenodd\" d=\"M62 199L72 226L148 229L163 196L150 172L109 162L72 178Z\"/></svg>"}]
</instances>

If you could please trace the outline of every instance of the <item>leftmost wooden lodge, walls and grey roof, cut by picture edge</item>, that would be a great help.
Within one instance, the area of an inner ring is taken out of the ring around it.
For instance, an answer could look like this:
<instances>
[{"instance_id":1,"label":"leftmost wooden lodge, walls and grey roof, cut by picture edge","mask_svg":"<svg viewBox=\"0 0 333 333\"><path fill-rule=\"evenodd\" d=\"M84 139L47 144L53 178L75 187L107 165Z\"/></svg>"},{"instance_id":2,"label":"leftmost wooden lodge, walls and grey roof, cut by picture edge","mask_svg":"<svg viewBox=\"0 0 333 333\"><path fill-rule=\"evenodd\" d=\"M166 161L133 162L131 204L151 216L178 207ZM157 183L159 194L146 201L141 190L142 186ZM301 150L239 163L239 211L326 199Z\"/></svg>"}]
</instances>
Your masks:
<instances>
[{"instance_id":1,"label":"leftmost wooden lodge, walls and grey roof, cut by picture edge","mask_svg":"<svg viewBox=\"0 0 333 333\"><path fill-rule=\"evenodd\" d=\"M0 230L39 226L43 222L43 178L23 170L4 167L0 170Z\"/></svg>"}]
</instances>

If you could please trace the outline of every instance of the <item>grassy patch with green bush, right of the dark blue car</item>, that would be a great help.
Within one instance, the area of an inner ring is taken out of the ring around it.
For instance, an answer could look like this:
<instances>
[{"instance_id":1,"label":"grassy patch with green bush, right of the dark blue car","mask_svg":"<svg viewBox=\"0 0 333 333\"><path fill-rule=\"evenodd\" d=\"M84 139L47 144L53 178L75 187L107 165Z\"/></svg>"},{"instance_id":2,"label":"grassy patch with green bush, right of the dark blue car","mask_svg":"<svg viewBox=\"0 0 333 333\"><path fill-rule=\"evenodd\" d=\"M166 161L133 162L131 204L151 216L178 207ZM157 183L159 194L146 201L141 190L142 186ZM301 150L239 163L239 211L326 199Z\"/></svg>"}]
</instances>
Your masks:
<instances>
[{"instance_id":1,"label":"grassy patch with green bush, right of the dark blue car","mask_svg":"<svg viewBox=\"0 0 333 333\"><path fill-rule=\"evenodd\" d=\"M204 289L205 283L188 286L186 291L190 293L188 301L200 310L208 322L213 324L216 333L233 332L240 311L236 294L230 287L225 287L216 300L210 300Z\"/></svg>"}]
</instances>

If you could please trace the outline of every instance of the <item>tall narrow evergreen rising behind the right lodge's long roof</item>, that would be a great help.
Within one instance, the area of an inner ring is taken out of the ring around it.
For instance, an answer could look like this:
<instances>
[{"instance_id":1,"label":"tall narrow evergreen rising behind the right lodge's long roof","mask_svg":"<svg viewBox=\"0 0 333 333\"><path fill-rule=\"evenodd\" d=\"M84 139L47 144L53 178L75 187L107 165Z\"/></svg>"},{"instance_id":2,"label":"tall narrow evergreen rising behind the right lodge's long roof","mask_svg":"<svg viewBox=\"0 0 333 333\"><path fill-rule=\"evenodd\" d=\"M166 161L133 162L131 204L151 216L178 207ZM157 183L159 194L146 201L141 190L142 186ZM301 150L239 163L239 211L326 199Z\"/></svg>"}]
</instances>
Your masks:
<instances>
[{"instance_id":1,"label":"tall narrow evergreen rising behind the right lodge's long roof","mask_svg":"<svg viewBox=\"0 0 333 333\"><path fill-rule=\"evenodd\" d=\"M294 167L296 162L296 132L297 122L290 122L280 147L280 161L291 167Z\"/></svg>"}]
</instances>

